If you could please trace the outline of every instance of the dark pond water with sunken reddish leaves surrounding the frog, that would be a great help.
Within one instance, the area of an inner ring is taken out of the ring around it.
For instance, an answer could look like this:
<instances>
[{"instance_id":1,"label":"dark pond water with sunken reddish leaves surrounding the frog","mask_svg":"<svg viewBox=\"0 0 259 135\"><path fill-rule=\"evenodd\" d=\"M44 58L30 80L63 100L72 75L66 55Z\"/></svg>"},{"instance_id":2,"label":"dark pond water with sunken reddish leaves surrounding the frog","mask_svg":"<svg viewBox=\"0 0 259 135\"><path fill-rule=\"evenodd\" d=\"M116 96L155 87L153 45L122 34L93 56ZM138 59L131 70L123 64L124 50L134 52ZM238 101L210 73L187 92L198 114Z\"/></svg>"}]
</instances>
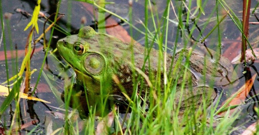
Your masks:
<instances>
[{"instance_id":1,"label":"dark pond water with sunken reddish leaves surrounding the frog","mask_svg":"<svg viewBox=\"0 0 259 135\"><path fill-rule=\"evenodd\" d=\"M126 20L130 19L130 15L128 14L129 4L128 1L124 0L114 0L115 4L113 5L107 5L106 9L111 10L112 12L120 15ZM163 11L165 9L164 4L165 1L156 1L151 3L153 5L153 11L157 9L157 14L159 16L159 19L161 19L161 16L163 14ZM242 0L235 1L235 4L229 3L229 6L233 9L233 11L236 13L236 15L241 20L242 18ZM24 31L24 28L31 20L31 14L33 13L33 9L35 7L36 0L34 1L27 1L27 0L3 0L2 6L3 6L3 15L5 16L4 22L5 22L5 38L6 38L6 46L7 50L13 50L13 52L9 53L15 53L15 48L18 50L18 68L20 67L22 60L24 58L24 48L26 45L27 37L29 30ZM56 4L58 3L57 0L53 1L47 1L42 0L41 1L41 12L43 12L46 16L49 16L50 14L56 12ZM176 4L176 1L173 1L174 4ZM179 2L178 2L179 3ZM239 4L239 5L238 5ZM156 7L154 6L156 5ZM199 29L203 30L203 37L206 36L212 28L216 25L216 21L212 21L208 24L205 24L207 19L210 17L210 13L212 9L215 7L215 1L209 0L206 3L207 6L204 7L205 15L201 15L199 20L197 21L197 27L195 28L193 32L193 39L197 40L199 37ZM238 6L237 6L238 5ZM256 5L256 1L252 1L251 7L254 8ZM187 5L188 6L188 5ZM192 4L192 8L196 6L196 4ZM169 21L169 31L167 33L168 38L168 49L167 52L170 54L173 54L171 50L174 49L174 43L176 40L176 33L177 33L177 19L175 17L175 14L173 13L172 7L170 8L170 21ZM95 27L96 22L95 17L93 16L93 12L97 13L96 9L92 8L92 5L86 4L79 1L71 1L71 0L63 0L60 3L60 10L59 13L65 14L64 17L62 17L58 21L58 26L60 28L63 28L66 30L69 34L77 34L79 29L82 26L92 26ZM185 12L186 11L182 11ZM226 14L225 10L219 11L221 15ZM256 10L256 13L258 14L258 9ZM176 14L178 11L176 10ZM106 16L109 16L107 13ZM194 17L192 17L194 18ZM153 21L151 16L149 16L150 21L148 22L149 30L151 32L154 31ZM155 16L155 20L156 20ZM185 19L185 18L183 18ZM140 31L145 30L143 25L140 23L144 20L144 1L138 1L133 2L132 5L132 24L136 28L138 28ZM216 20L216 14L212 15L211 20ZM39 25L39 35L43 32L43 23L45 21L44 17L40 17L38 21ZM251 15L250 22L256 22L256 18L254 15ZM117 25L119 23L119 25ZM207 25L205 28L204 26ZM106 19L106 32L108 34L111 34L113 36L118 37L119 39L122 39L126 42L130 41L130 26L123 22L121 19L118 19L117 17L111 15ZM193 23L191 22L189 27L192 28ZM47 26L46 26L47 27ZM253 48L258 48L258 25L252 25L250 24L250 35L249 35L249 41L252 44ZM2 30L2 29L1 29ZM96 29L96 31L98 31ZM216 30L215 30L216 31ZM237 54L239 54L240 50L237 47L234 49L229 49L229 46L233 46L233 44L237 44L237 46L240 47L241 41L240 41L240 32L238 28L235 26L233 21L230 19L229 16L226 17L226 19L220 24L220 32L221 32L221 40L222 40L222 48L221 52L223 56L226 58L233 60ZM186 31L188 33L188 31ZM124 34L124 35L121 35ZM184 33L182 33L184 34ZM35 39L39 37L38 34L35 34ZM58 30L54 30L53 37L51 40L51 50L56 49L56 43L59 39L66 37L67 35L64 34L64 32L60 32ZM49 41L50 38L50 32L47 32L46 39ZM144 34L141 34L138 30L133 29L132 30L132 38L136 40L138 43L144 45L145 38ZM182 48L183 43L182 39L179 37L178 39L178 46L176 48ZM199 40L199 39L198 39ZM165 41L164 41L165 42ZM213 50L216 50L216 46L218 44L218 35L217 32L212 33L208 39L205 40L205 43L208 48L211 48ZM43 40L41 39L36 45L36 51L33 54L31 58L31 69L37 69L35 73L31 76L31 86L35 86L35 83L37 81L40 68L45 56L45 52L43 51ZM158 46L155 44L154 48L158 48ZM0 83L7 80L6 75L6 65L4 61L4 46L3 43L1 43L0 46ZM233 53L233 54L232 54ZM10 56L10 54L8 54ZM12 62L13 61L13 62ZM250 62L251 63L251 62ZM47 66L48 65L48 66ZM252 66L248 66L249 68L247 71L250 71L244 74L242 74L244 70L243 64L233 64L235 67L235 71L237 73L237 78L239 79L239 84L235 86L234 88L227 88L227 87L219 87L218 90L222 91L224 89L223 97L220 99L220 103L223 103L228 97L230 97L231 94L235 93L240 87L242 87L245 83L245 77L253 76L256 73L258 74L257 69L259 68L258 60L255 62ZM16 70L16 64L15 59L8 59L8 69L9 69L9 77L12 77L15 75ZM33 128L37 128L34 133L35 134L45 134L47 125L49 124L49 121L53 122L53 129L60 128L64 125L64 111L60 110L59 108L64 108L64 102L62 101L62 93L64 91L64 80L69 80L71 78L75 77L75 73L73 69L71 69L66 62L60 57L58 54L58 51L56 51L53 54L47 55L47 64L44 64L43 73L41 74L41 78L39 80L39 85L37 86L37 97L46 101L51 102L50 104L41 103L39 101L30 101L26 99L21 99L20 101L20 107L21 107L21 113L20 116L22 118L21 124L25 125L19 132L21 134L25 134L26 132L29 132ZM237 131L234 132L234 134L238 134L243 132L243 130L248 127L249 125L256 122L257 115L256 111L254 110L254 107L258 107L258 101L259 98L257 96L257 93L259 92L259 77L256 76L256 79L254 81L254 85L251 89L251 91L247 94L247 97L245 98L246 104L241 105L241 115L239 119L236 120L235 125L233 126L240 126L241 128L238 128ZM2 104L5 97L0 97L0 103ZM0 128L3 125L6 125L9 127L10 121L13 117L13 111L15 109L15 101L12 102L10 107L7 108L7 110L3 113L1 116L1 122L0 122ZM69 108L69 110L72 110L72 108ZM51 113L51 111L55 112L55 116ZM80 117L82 114L79 114L76 112L75 119L77 117ZM123 115L123 114L122 114ZM58 118L58 116L60 116ZM83 117L83 116L81 116ZM83 120L79 119L79 123L83 122ZM37 123L36 126L35 122ZM34 125L32 124L34 123ZM27 126L26 126L27 124ZM81 124L83 125L83 124ZM9 130L9 129L7 129ZM1 133L1 131L0 131Z\"/></svg>"}]
</instances>

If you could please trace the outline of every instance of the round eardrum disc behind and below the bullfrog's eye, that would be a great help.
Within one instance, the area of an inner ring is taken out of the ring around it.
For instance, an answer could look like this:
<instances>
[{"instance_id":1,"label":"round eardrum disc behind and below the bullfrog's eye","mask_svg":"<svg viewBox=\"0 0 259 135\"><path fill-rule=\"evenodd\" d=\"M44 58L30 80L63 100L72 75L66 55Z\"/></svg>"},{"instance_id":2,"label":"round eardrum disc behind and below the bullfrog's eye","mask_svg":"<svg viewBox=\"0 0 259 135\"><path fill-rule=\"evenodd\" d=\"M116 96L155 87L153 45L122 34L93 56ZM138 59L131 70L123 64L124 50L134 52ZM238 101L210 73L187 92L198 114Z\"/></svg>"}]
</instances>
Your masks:
<instances>
[{"instance_id":1,"label":"round eardrum disc behind and below the bullfrog's eye","mask_svg":"<svg viewBox=\"0 0 259 135\"><path fill-rule=\"evenodd\" d=\"M105 67L105 61L104 58L102 56L100 56L99 54L89 54L86 56L85 58L85 69L93 74L93 75L97 75L99 73L102 72L102 70Z\"/></svg>"}]
</instances>

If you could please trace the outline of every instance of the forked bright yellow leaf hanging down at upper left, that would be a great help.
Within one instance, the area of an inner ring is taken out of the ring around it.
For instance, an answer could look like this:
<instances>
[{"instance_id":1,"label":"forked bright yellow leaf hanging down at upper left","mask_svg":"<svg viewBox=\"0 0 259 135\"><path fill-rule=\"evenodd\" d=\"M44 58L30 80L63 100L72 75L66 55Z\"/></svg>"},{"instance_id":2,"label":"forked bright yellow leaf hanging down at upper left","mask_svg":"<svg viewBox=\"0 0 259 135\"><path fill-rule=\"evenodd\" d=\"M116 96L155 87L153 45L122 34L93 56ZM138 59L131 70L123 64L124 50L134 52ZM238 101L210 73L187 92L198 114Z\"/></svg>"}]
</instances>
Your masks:
<instances>
[{"instance_id":1,"label":"forked bright yellow leaf hanging down at upper left","mask_svg":"<svg viewBox=\"0 0 259 135\"><path fill-rule=\"evenodd\" d=\"M31 18L31 21L28 23L28 25L25 27L24 31L27 30L31 25L32 27L35 26L35 29L37 31L37 33L39 34L39 27L38 27L38 15L39 15L39 11L41 9L41 0L38 0L37 1L37 5L35 6L34 8L34 11L33 11L33 17Z\"/></svg>"}]
</instances>

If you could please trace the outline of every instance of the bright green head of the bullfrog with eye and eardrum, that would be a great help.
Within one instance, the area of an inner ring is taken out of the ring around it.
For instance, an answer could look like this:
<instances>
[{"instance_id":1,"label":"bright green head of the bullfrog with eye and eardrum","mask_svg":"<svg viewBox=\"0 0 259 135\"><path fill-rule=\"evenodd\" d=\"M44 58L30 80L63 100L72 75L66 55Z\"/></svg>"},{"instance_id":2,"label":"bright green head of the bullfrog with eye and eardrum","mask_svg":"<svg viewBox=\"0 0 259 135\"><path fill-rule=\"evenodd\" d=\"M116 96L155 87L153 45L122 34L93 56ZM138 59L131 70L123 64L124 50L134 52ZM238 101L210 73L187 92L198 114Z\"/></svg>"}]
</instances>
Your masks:
<instances>
[{"instance_id":1,"label":"bright green head of the bullfrog with eye and eardrum","mask_svg":"<svg viewBox=\"0 0 259 135\"><path fill-rule=\"evenodd\" d=\"M77 80L85 83L87 90L99 93L100 80L107 70L107 58L100 52L99 33L87 26L79 30L79 34L60 39L57 49L62 58L73 68Z\"/></svg>"}]
</instances>

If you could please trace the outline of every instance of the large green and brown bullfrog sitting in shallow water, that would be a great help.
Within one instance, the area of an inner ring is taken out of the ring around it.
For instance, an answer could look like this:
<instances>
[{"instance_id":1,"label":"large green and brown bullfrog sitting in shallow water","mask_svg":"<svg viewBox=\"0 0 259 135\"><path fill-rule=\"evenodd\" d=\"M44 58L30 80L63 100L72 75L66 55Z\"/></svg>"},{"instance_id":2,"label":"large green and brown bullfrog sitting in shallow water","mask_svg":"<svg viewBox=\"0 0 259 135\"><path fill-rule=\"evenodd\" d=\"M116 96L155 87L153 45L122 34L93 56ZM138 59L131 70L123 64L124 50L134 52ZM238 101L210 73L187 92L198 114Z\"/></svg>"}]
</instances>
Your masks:
<instances>
[{"instance_id":1,"label":"large green and brown bullfrog sitting in shallow water","mask_svg":"<svg viewBox=\"0 0 259 135\"><path fill-rule=\"evenodd\" d=\"M208 101L216 98L217 91L208 87L208 82L204 81L203 77L206 77L206 80L213 79L214 85L226 85L230 83L228 78L231 77L233 71L231 62L227 58L221 56L217 63L218 66L215 67L215 60L198 50L192 50L190 57L188 57L190 49L181 49L174 56L163 52L163 55L166 55L166 67L163 67L163 61L160 61L161 67L158 67L158 57L161 53L158 50L151 48L148 61L145 62L145 47L132 46L111 35L95 32L89 26L81 28L76 35L60 39L57 43L57 49L62 58L75 71L77 82L81 85L84 84L88 95L106 93L109 97L121 102L127 100L125 94L129 97L132 96L133 71L136 72L136 69L142 69L144 74L153 78L161 73L160 86L162 90L164 85L163 70L166 69L168 80L172 78L173 81L176 81L177 78L176 102L179 102L180 87L183 83L180 71L187 68L186 80L191 78L191 82L185 85L186 90L183 93L181 109L188 106L185 103L189 101L193 101L196 105L201 104L202 95L205 95ZM134 64L132 57L134 57ZM184 64L187 59L190 61L190 66ZM176 67L178 60L180 60L180 65L178 64ZM174 71L175 68L178 69ZM158 72L158 69L161 72ZM105 89L101 86L108 88ZM144 81L142 85L138 83L138 89L140 87L142 87L142 93L139 94L145 95L145 91L148 92L150 85Z\"/></svg>"}]
</instances>

